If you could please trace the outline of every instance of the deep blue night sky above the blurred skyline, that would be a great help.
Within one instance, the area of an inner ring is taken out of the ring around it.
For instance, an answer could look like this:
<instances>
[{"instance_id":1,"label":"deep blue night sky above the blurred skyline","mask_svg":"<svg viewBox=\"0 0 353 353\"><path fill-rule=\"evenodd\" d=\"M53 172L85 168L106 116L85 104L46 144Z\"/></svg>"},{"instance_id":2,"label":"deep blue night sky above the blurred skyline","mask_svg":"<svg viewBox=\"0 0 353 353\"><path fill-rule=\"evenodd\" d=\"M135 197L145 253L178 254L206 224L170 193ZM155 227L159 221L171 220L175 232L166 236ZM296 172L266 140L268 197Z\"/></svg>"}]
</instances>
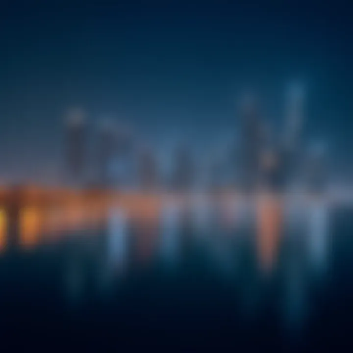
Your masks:
<instances>
[{"instance_id":1,"label":"deep blue night sky above the blurred skyline","mask_svg":"<svg viewBox=\"0 0 353 353\"><path fill-rule=\"evenodd\" d=\"M71 106L147 139L182 130L207 139L236 130L244 88L279 126L292 80L307 86L305 134L326 137L348 163L349 1L54 2L0 5L0 178L55 179Z\"/></svg>"}]
</instances>

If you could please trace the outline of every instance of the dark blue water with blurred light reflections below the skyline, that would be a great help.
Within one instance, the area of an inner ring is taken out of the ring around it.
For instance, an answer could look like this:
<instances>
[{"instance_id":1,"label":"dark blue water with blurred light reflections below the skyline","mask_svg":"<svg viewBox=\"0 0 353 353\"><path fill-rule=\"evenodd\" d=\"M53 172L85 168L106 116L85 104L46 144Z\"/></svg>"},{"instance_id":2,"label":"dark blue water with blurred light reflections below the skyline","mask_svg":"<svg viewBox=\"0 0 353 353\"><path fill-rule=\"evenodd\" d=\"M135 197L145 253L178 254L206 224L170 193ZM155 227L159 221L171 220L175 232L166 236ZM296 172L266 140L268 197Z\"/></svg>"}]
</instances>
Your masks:
<instances>
[{"instance_id":1,"label":"dark blue water with blurred light reflections below the skyline","mask_svg":"<svg viewBox=\"0 0 353 353\"><path fill-rule=\"evenodd\" d=\"M271 237L261 214L215 204L199 200L198 212L185 213L167 202L139 218L115 205L94 227L78 222L55 236L26 221L38 241L0 258L5 336L129 349L350 343L352 207L286 207Z\"/></svg>"}]
</instances>

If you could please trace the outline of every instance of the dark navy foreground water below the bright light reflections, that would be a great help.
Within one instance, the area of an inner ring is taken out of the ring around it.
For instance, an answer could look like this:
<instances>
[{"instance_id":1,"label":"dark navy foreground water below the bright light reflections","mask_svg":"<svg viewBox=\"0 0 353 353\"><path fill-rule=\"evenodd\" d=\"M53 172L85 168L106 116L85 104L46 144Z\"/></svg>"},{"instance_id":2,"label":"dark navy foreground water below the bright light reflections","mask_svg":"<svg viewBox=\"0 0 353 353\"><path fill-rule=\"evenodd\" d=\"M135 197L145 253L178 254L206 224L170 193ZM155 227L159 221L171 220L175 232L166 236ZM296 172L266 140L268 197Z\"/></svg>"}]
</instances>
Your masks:
<instances>
[{"instance_id":1,"label":"dark navy foreground water below the bright light reflections","mask_svg":"<svg viewBox=\"0 0 353 353\"><path fill-rule=\"evenodd\" d=\"M109 267L104 232L4 253L1 343L48 351L346 351L353 348L353 211L335 210L330 224L322 268L311 270L303 248L293 252L283 241L266 276L246 236L218 258L197 240L185 242L177 263L131 256L126 272Z\"/></svg>"}]
</instances>

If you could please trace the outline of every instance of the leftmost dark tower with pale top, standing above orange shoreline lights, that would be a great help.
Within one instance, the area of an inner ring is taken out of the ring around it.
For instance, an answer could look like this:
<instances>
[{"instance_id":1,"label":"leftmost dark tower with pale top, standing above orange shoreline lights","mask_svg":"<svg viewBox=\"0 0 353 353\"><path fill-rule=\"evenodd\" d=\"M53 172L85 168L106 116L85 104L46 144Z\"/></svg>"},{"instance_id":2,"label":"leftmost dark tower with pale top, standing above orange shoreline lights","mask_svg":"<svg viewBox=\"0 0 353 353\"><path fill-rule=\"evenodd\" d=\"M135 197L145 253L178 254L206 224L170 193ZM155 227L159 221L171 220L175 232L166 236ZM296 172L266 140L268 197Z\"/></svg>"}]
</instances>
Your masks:
<instances>
[{"instance_id":1,"label":"leftmost dark tower with pale top, standing above orange shoreline lights","mask_svg":"<svg viewBox=\"0 0 353 353\"><path fill-rule=\"evenodd\" d=\"M71 109L66 118L65 154L66 181L80 185L84 181L87 163L87 123L84 111Z\"/></svg>"}]
</instances>

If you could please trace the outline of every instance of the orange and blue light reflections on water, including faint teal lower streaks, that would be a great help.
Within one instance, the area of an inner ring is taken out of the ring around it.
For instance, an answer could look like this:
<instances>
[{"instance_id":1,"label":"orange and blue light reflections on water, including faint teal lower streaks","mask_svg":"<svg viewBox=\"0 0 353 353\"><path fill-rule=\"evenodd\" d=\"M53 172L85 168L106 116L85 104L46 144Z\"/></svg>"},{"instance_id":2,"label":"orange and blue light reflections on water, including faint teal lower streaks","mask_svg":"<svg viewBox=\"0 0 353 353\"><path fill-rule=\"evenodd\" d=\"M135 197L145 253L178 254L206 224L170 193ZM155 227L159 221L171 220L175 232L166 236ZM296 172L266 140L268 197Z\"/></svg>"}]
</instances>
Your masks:
<instances>
[{"instance_id":1,"label":"orange and blue light reflections on water, including faint teal lower streaks","mask_svg":"<svg viewBox=\"0 0 353 353\"><path fill-rule=\"evenodd\" d=\"M310 274L316 276L318 269L328 266L328 205L320 201L305 207L288 205L273 197L248 204L231 199L217 204L211 199L194 201L187 208L175 200L165 200L160 209L143 203L134 212L122 202L109 209L79 202L67 208L27 206L18 219L19 246L35 251L45 243L55 247L63 239L74 239L74 250L64 256L64 283L68 298L75 301L84 295L85 278L93 273L101 283L97 285L110 291L119 277L131 271L154 263L185 269L184 259L190 253L195 258L202 253L213 272L237 281L239 300L243 301L240 305L248 305L252 298L252 312L257 312L264 301L266 281L272 283L282 272L283 295L278 305L283 317L298 325L310 306ZM1 209L2 251L6 249L8 223ZM196 264L193 261L187 267L190 270ZM87 267L87 263L91 265ZM254 269L251 263L255 263Z\"/></svg>"}]
</instances>

